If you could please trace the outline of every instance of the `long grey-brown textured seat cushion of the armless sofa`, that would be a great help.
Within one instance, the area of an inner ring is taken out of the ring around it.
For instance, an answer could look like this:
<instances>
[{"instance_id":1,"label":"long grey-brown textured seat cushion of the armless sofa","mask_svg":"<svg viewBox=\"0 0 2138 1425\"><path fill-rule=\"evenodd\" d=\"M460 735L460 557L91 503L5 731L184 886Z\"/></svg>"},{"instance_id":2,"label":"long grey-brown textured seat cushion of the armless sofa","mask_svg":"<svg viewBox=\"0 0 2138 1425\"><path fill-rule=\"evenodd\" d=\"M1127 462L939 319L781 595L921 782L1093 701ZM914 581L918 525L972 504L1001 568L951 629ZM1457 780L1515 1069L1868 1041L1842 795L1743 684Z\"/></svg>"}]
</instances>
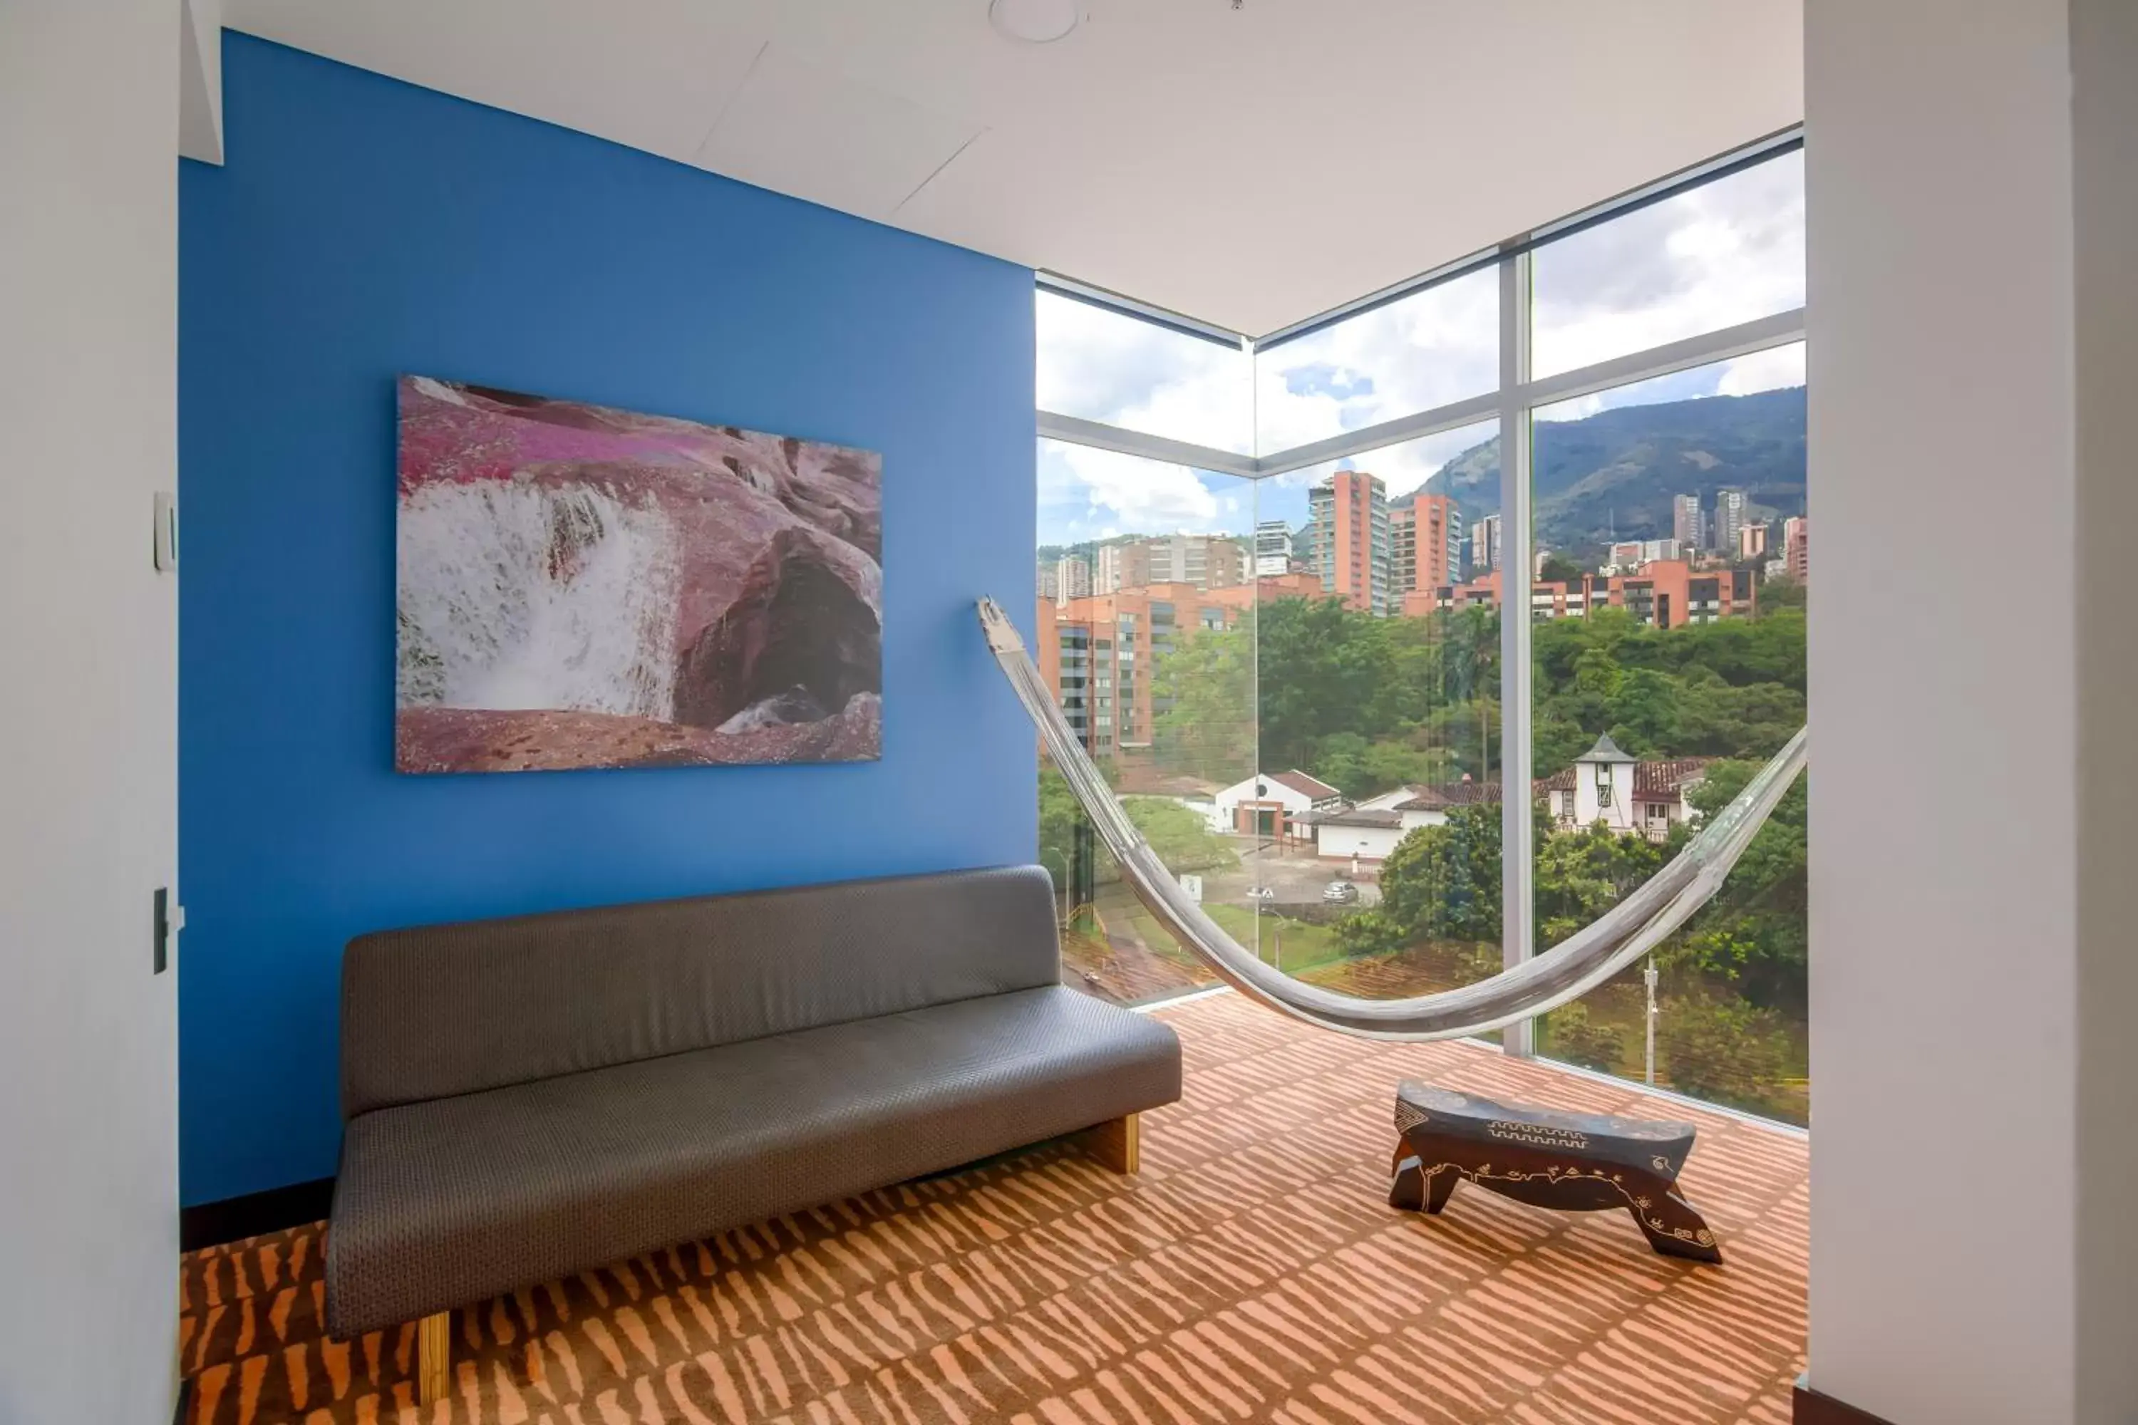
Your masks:
<instances>
[{"instance_id":1,"label":"long grey-brown textured seat cushion of the armless sofa","mask_svg":"<svg viewBox=\"0 0 2138 1425\"><path fill-rule=\"evenodd\" d=\"M1178 1096L1169 1028L1048 985L361 1113L327 1325L348 1340Z\"/></svg>"}]
</instances>

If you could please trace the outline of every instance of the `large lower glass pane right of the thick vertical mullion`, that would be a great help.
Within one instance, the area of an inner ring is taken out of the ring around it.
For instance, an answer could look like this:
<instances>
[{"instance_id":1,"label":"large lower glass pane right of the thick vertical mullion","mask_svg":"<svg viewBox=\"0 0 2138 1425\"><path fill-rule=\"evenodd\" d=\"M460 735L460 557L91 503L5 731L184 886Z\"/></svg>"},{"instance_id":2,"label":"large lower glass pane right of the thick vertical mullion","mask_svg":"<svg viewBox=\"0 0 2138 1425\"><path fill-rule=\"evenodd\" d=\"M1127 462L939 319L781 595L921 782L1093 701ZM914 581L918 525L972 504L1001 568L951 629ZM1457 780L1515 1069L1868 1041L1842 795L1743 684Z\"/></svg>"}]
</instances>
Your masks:
<instances>
[{"instance_id":1,"label":"large lower glass pane right of the thick vertical mullion","mask_svg":"<svg viewBox=\"0 0 2138 1425\"><path fill-rule=\"evenodd\" d=\"M1804 353L1535 417L1535 919L1548 949L1676 855L1804 724ZM1800 780L1646 966L1544 1017L1539 1051L1807 1122Z\"/></svg>"}]
</instances>

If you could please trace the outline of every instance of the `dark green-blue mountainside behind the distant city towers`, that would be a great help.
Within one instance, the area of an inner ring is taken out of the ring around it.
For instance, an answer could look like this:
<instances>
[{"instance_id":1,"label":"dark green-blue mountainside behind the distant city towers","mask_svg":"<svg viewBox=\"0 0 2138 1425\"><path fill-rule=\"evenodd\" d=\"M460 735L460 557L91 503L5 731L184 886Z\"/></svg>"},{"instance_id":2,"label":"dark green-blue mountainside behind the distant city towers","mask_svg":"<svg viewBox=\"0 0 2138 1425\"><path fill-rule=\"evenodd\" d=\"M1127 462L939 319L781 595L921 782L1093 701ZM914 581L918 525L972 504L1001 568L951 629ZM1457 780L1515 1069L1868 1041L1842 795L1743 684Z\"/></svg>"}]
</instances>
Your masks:
<instances>
[{"instance_id":1,"label":"dark green-blue mountainside behind the distant city towers","mask_svg":"<svg viewBox=\"0 0 2138 1425\"><path fill-rule=\"evenodd\" d=\"M1565 553L1668 538L1670 500L1742 489L1757 517L1804 513L1804 389L1623 406L1582 421L1539 423L1537 543ZM1471 519L1499 508L1499 438L1475 444L1426 481Z\"/></svg>"}]
</instances>

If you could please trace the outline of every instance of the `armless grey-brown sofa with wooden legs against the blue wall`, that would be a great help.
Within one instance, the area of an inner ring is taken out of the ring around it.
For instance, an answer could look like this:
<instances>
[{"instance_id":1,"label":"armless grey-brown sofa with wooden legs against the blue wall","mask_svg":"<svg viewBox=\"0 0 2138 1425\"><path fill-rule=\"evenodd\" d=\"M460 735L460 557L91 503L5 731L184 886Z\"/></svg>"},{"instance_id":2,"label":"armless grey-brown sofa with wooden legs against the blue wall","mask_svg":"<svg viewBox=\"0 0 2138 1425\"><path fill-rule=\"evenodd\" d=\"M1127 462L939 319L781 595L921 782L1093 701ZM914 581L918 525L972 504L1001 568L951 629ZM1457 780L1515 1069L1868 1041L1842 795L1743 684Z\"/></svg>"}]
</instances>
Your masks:
<instances>
[{"instance_id":1,"label":"armless grey-brown sofa with wooden legs against the blue wall","mask_svg":"<svg viewBox=\"0 0 2138 1425\"><path fill-rule=\"evenodd\" d=\"M342 959L327 1329L1095 1130L1180 1096L1163 1023L1060 985L1041 867L361 936Z\"/></svg>"}]
</instances>

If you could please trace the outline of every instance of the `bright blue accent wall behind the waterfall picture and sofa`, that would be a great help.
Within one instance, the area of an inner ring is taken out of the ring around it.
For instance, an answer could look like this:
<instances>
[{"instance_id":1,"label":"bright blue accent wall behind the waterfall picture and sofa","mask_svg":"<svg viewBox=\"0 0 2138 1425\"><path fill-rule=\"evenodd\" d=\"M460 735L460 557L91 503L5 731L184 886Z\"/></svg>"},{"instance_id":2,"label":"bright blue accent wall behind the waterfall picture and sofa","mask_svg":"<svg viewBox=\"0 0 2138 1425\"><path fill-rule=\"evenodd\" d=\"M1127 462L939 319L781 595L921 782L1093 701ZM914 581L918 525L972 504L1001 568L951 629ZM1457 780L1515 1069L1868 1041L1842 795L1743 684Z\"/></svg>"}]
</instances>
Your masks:
<instances>
[{"instance_id":1,"label":"bright blue accent wall behind the waterfall picture and sofa","mask_svg":"<svg viewBox=\"0 0 2138 1425\"><path fill-rule=\"evenodd\" d=\"M334 1173L359 931L1037 846L973 620L1031 620L1028 269L237 34L222 85L229 162L180 171L188 1205ZM881 451L883 761L396 776L400 372Z\"/></svg>"}]
</instances>

